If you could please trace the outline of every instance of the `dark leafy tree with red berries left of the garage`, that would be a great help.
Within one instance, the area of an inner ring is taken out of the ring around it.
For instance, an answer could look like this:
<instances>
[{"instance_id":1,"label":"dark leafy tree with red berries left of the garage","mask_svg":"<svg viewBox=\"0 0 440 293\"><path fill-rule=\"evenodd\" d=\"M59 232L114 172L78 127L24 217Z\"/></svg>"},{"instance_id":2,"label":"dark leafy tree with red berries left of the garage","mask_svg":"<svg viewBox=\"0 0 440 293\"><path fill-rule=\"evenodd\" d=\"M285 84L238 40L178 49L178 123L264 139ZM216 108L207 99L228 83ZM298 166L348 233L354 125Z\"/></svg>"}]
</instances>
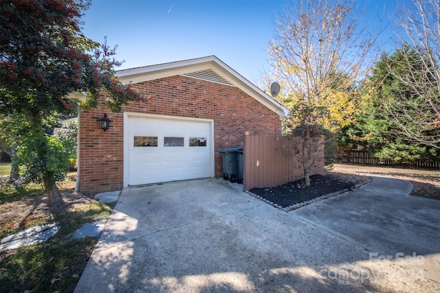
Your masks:
<instances>
[{"instance_id":1,"label":"dark leafy tree with red berries left of the garage","mask_svg":"<svg viewBox=\"0 0 440 293\"><path fill-rule=\"evenodd\" d=\"M131 85L118 82L114 49L85 37L80 18L89 3L81 0L0 1L0 114L23 115L19 148L29 180L43 183L53 207L62 204L56 182L58 142L47 136L45 117L67 113L75 101L69 93L87 92L95 106L102 89L110 110L133 99L144 100Z\"/></svg>"}]
</instances>

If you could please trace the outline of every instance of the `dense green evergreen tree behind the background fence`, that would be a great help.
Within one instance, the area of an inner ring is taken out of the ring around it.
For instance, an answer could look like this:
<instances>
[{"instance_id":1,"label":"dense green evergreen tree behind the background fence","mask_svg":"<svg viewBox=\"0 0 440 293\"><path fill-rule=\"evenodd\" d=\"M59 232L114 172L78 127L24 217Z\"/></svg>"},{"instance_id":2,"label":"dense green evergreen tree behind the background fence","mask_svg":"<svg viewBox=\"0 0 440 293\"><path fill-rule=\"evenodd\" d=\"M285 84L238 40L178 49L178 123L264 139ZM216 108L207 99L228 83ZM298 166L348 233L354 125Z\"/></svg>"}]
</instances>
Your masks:
<instances>
[{"instance_id":1,"label":"dense green evergreen tree behind the background fence","mask_svg":"<svg viewBox=\"0 0 440 293\"><path fill-rule=\"evenodd\" d=\"M363 84L363 98L369 100L370 106L365 113L356 118L356 123L344 128L340 136L340 145L345 148L353 148L361 145L364 150L371 150L380 161L392 161L393 163L412 163L419 159L430 159L436 154L432 147L421 143L414 143L401 135L399 125L393 119L396 113L389 113L384 105L395 103L395 99L406 97L413 102L421 102L417 93L407 86L394 72L406 71L406 64L401 60L412 56L413 72L420 69L417 52L408 51L408 48L396 49L393 54L382 54L381 59L375 63L371 75ZM412 111L406 110L406 113ZM391 117L390 117L391 115ZM416 119L416 116L414 116Z\"/></svg>"}]
</instances>

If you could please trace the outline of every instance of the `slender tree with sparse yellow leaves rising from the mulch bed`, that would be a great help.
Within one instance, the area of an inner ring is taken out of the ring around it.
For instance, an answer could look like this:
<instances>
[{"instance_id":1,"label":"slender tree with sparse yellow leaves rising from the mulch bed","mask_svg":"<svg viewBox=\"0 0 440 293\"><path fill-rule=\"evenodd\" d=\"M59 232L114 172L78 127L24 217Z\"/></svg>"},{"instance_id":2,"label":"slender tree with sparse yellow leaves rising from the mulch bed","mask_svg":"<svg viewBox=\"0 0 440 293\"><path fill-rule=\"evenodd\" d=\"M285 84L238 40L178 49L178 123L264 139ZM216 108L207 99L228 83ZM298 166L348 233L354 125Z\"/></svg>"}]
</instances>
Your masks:
<instances>
[{"instance_id":1,"label":"slender tree with sparse yellow leaves rising from the mulch bed","mask_svg":"<svg viewBox=\"0 0 440 293\"><path fill-rule=\"evenodd\" d=\"M354 1L298 0L276 23L269 49L272 78L289 99L286 127L300 142L288 147L303 164L306 183L325 128L336 132L362 108L354 85L371 67L380 34L362 22L363 14Z\"/></svg>"}]
</instances>

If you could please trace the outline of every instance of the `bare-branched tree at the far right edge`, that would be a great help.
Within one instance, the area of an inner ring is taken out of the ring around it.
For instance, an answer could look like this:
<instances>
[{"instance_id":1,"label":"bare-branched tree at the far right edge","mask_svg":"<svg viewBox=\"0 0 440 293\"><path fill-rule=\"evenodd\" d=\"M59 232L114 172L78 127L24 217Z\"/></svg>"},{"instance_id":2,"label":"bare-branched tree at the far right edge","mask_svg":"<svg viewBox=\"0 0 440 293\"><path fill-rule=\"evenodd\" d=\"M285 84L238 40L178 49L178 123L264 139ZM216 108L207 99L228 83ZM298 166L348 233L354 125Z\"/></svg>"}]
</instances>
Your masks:
<instances>
[{"instance_id":1,"label":"bare-branched tree at the far right edge","mask_svg":"<svg viewBox=\"0 0 440 293\"><path fill-rule=\"evenodd\" d=\"M388 70L412 92L384 101L397 133L440 148L440 0L413 0L399 11L402 58Z\"/></svg>"}]
</instances>

